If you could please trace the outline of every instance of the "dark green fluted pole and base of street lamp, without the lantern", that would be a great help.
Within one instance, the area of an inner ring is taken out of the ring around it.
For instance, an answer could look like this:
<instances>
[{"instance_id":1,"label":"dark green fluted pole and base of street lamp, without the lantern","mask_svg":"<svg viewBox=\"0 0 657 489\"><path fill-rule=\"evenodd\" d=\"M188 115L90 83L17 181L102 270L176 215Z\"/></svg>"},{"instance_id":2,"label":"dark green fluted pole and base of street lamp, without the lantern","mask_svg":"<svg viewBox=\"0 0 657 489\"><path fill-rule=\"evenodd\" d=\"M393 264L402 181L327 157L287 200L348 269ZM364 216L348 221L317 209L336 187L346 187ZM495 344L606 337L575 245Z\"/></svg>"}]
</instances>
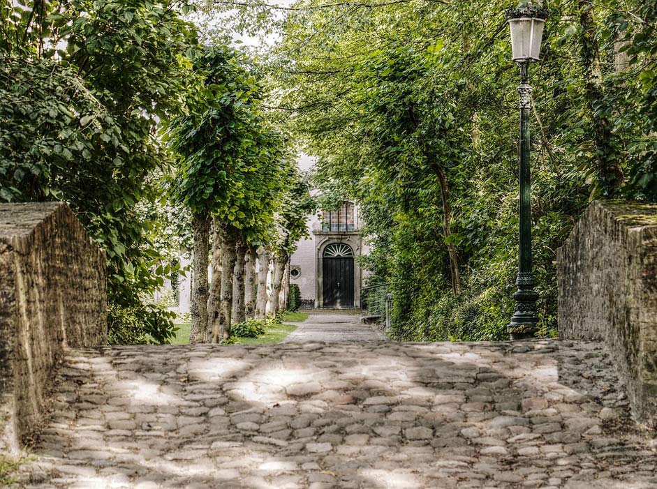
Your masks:
<instances>
[{"instance_id":1,"label":"dark green fluted pole and base of street lamp, without the lantern","mask_svg":"<svg viewBox=\"0 0 657 489\"><path fill-rule=\"evenodd\" d=\"M513 299L515 313L511 317L509 332L512 340L531 338L536 331L536 301L538 294L534 290L534 279L531 271L531 177L529 171L529 110L531 108L531 86L529 79L529 60L520 61L520 241L518 276L515 285L518 287Z\"/></svg>"}]
</instances>

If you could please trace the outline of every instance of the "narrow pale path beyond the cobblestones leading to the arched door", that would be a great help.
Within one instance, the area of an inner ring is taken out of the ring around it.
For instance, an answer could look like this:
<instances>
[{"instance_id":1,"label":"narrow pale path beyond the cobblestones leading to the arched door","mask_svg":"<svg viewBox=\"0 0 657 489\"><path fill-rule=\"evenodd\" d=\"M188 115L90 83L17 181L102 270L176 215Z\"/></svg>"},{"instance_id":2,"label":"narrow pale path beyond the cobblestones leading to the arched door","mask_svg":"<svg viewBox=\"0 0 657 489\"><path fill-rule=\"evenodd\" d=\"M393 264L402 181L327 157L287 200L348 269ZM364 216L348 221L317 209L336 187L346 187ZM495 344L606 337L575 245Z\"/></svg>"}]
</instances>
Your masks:
<instances>
[{"instance_id":1,"label":"narrow pale path beyond the cobblestones leading to the arched door","mask_svg":"<svg viewBox=\"0 0 657 489\"><path fill-rule=\"evenodd\" d=\"M387 340L380 326L361 324L359 315L311 314L304 322L293 324L297 325L297 329L290 333L283 343L305 341L360 343Z\"/></svg>"}]
</instances>

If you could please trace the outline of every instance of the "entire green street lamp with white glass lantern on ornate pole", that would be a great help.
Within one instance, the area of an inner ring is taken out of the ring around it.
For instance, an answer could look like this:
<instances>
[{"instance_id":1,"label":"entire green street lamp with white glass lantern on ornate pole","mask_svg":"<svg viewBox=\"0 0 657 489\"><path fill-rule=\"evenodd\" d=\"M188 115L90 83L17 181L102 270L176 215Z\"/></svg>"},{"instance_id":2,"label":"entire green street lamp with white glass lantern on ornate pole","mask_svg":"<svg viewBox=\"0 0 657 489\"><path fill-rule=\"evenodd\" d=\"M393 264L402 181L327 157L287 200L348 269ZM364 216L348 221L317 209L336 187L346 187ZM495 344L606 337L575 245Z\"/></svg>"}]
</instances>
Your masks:
<instances>
[{"instance_id":1,"label":"entire green street lamp with white glass lantern on ornate pole","mask_svg":"<svg viewBox=\"0 0 657 489\"><path fill-rule=\"evenodd\" d=\"M531 273L531 200L529 176L529 108L531 86L529 79L529 63L538 61L540 55L540 40L543 33L547 10L531 3L519 8L506 10L506 16L511 30L512 59L520 67L520 243L518 276L515 285L518 287L513 299L515 313L508 326L512 340L531 338L536 331L536 301L538 294L534 290L534 280Z\"/></svg>"}]
</instances>

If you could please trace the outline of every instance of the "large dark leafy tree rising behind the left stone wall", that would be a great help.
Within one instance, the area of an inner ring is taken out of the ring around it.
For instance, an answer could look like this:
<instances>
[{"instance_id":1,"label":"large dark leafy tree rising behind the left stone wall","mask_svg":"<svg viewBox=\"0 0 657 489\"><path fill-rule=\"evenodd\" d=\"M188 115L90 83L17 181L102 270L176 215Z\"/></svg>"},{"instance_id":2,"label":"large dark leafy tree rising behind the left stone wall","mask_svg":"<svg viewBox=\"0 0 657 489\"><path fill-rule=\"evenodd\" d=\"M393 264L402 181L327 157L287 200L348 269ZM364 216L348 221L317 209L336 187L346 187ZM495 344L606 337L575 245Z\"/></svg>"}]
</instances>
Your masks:
<instances>
[{"instance_id":1,"label":"large dark leafy tree rising behind the left stone wall","mask_svg":"<svg viewBox=\"0 0 657 489\"><path fill-rule=\"evenodd\" d=\"M110 341L165 342L170 315L142 297L177 271L139 206L160 198L156 122L180 107L195 28L148 0L3 2L0 25L0 199L69 202L108 257Z\"/></svg>"}]
</instances>

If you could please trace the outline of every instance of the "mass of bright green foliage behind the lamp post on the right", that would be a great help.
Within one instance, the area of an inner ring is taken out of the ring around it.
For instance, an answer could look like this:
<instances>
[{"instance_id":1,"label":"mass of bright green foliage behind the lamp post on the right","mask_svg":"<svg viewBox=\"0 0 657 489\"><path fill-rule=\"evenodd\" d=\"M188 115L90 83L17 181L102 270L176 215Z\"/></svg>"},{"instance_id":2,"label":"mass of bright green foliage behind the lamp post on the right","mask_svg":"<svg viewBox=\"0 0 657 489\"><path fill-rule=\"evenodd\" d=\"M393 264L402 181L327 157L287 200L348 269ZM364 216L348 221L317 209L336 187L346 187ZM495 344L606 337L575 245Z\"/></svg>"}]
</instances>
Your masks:
<instances>
[{"instance_id":1,"label":"mass of bright green foliage behind the lamp post on the right","mask_svg":"<svg viewBox=\"0 0 657 489\"><path fill-rule=\"evenodd\" d=\"M394 335L505 338L518 246L519 73L503 15L510 4L295 6L276 52L277 81L287 88L281 119L294 114L297 135L318 157L324 200L359 204L371 246L363 264L390 283ZM542 60L530 68L531 206L540 334L552 336L556 249L589 200L657 199L657 7L546 6ZM448 246L456 249L458 295Z\"/></svg>"}]
</instances>

